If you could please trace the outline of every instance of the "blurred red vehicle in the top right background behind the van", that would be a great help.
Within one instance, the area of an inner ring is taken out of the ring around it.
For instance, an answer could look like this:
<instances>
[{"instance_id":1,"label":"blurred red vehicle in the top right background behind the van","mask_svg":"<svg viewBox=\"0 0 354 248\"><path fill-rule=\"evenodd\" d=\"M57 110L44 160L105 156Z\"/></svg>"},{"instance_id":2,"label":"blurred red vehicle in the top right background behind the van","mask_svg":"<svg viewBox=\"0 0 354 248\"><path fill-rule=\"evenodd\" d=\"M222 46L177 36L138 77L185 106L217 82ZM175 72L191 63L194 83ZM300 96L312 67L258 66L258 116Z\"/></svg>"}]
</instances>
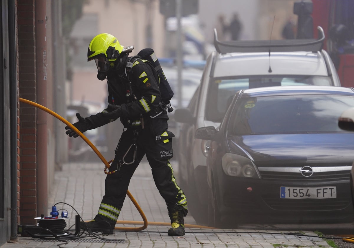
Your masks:
<instances>
[{"instance_id":1,"label":"blurred red vehicle in the top right background behind the van","mask_svg":"<svg viewBox=\"0 0 354 248\"><path fill-rule=\"evenodd\" d=\"M331 55L344 87L354 87L354 1L312 0L313 34L325 32L324 49Z\"/></svg>"}]
</instances>

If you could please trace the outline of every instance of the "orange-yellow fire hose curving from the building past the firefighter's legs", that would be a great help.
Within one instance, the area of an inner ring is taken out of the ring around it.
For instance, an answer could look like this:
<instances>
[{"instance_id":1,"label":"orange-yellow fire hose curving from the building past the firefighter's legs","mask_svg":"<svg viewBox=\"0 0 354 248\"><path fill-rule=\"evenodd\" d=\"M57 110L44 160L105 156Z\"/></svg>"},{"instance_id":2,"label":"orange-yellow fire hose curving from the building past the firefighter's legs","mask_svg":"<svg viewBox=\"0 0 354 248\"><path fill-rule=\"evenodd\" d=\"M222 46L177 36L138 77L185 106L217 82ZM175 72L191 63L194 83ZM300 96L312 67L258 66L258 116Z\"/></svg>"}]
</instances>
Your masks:
<instances>
[{"instance_id":1,"label":"orange-yellow fire hose curving from the building past the firefighter's legs","mask_svg":"<svg viewBox=\"0 0 354 248\"><path fill-rule=\"evenodd\" d=\"M66 119L64 119L63 117L61 117L59 114L55 113L54 111L51 111L50 109L26 100L24 98L19 98L20 102L23 103L27 103L29 105L32 105L34 107L37 107L39 109L42 109L43 111L47 112L48 114L53 115L55 118L61 120L61 122L63 122L64 124L66 124L67 126L69 126L71 129L73 129L86 143L87 145L89 145L92 150L97 154L97 156L102 160L102 162L104 163L105 167L107 167L109 169L109 164L107 162L107 160L105 160L105 158L102 156L102 154L97 150L97 148L91 143L91 141L89 139L86 138L86 136L84 134L82 134L77 128L75 128L75 126L73 124L71 124L70 122L68 122ZM143 222L141 221L117 221L117 224L126 224L126 225L141 225L143 224L143 226L141 227L114 227L114 230L118 230L118 231L142 231L144 230L147 226L148 226L148 220L146 219L146 216L143 212L143 210L140 208L138 202L135 200L135 198L132 196L132 194L129 192L129 190L127 191L127 196L130 198L130 200L132 201L132 203L135 205L136 209L138 210L139 214L141 215L141 217L143 218ZM163 225L163 226L169 226L171 225L168 222L149 222L149 224L151 225ZM185 224L185 227L189 227L189 228L207 228L207 229L213 229L213 227L209 227L209 226L198 226L198 225L188 225Z\"/></svg>"}]
</instances>

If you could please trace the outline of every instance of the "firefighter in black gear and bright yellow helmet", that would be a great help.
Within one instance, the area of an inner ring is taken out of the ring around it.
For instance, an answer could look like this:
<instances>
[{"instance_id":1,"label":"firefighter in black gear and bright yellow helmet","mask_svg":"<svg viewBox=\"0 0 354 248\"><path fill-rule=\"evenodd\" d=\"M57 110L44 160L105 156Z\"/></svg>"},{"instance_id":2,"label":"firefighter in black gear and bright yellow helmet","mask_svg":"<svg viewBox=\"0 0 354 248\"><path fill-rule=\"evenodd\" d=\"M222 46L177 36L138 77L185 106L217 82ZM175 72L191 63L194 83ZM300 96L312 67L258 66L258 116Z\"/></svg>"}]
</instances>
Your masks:
<instances>
[{"instance_id":1,"label":"firefighter in black gear and bright yellow helmet","mask_svg":"<svg viewBox=\"0 0 354 248\"><path fill-rule=\"evenodd\" d=\"M107 80L108 107L89 117L76 114L73 125L84 133L120 119L124 131L115 149L114 161L106 172L105 195L98 213L82 229L112 234L122 208L130 179L143 156L152 169L153 179L164 198L171 228L169 236L184 235L187 199L173 176L173 133L167 130L166 106L161 100L159 76L146 60L129 57L133 46L124 48L111 34L99 34L92 39L87 61L95 60L97 78ZM134 58L134 59L133 59ZM66 134L78 137L69 126Z\"/></svg>"}]
</instances>

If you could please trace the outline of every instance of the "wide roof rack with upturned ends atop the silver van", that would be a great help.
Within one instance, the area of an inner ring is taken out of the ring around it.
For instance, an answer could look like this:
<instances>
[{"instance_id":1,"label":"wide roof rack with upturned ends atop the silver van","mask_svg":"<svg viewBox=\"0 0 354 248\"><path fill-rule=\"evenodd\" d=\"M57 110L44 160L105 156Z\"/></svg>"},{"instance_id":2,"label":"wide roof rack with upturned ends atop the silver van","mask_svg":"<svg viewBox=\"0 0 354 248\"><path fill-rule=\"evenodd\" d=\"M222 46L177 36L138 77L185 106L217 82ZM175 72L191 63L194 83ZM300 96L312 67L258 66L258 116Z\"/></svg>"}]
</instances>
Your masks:
<instances>
[{"instance_id":1,"label":"wide roof rack with upturned ends atop the silver van","mask_svg":"<svg viewBox=\"0 0 354 248\"><path fill-rule=\"evenodd\" d=\"M219 41L214 29L214 46L219 53L230 52L299 52L321 51L325 33L318 26L318 39L288 39L288 40L234 40Z\"/></svg>"}]
</instances>

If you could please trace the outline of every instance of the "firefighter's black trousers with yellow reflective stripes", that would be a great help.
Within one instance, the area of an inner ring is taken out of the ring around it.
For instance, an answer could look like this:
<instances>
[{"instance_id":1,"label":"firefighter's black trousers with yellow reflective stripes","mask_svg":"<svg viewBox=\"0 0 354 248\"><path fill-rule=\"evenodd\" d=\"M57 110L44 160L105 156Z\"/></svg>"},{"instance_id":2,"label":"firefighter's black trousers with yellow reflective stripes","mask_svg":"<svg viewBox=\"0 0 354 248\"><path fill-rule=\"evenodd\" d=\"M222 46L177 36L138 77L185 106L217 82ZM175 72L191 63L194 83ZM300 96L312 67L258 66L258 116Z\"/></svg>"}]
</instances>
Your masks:
<instances>
[{"instance_id":1,"label":"firefighter's black trousers with yellow reflective stripes","mask_svg":"<svg viewBox=\"0 0 354 248\"><path fill-rule=\"evenodd\" d=\"M105 220L112 226L115 225L126 197L130 179L145 154L151 167L155 185L166 202L167 210L173 212L181 209L183 215L187 215L186 197L177 185L176 179L173 176L172 166L169 162L170 158L173 157L173 136L167 129L159 133L152 133L146 129L139 130L136 138L135 162L120 166L124 154L133 143L134 137L134 131L132 130L128 129L122 133L115 152L114 161L109 168L109 172L117 169L118 171L108 174L105 179L105 195L103 196L95 220ZM126 163L132 162L134 150L134 146L132 146L126 154L124 158Z\"/></svg>"}]
</instances>

